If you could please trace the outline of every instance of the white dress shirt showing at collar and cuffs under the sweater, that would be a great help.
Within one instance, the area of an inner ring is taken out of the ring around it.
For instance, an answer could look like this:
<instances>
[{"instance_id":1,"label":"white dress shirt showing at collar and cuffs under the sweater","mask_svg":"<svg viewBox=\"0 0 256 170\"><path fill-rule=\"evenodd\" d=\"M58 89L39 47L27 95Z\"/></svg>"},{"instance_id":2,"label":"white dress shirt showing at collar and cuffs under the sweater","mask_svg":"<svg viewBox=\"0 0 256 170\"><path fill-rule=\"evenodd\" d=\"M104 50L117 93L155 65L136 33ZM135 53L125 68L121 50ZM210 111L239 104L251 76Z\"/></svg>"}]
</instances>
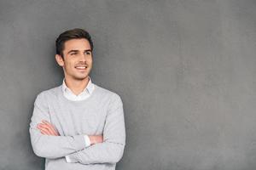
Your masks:
<instances>
[{"instance_id":1,"label":"white dress shirt showing at collar and cuffs under the sweater","mask_svg":"<svg viewBox=\"0 0 256 170\"><path fill-rule=\"evenodd\" d=\"M91 79L89 77L89 82L87 84L87 86L84 88L83 92L81 92L79 95L73 94L73 92L71 91L70 88L67 88L67 85L65 83L65 78L63 79L62 82L62 92L63 95L65 96L65 98L72 100L72 101L80 101L80 100L84 100L90 97L90 95L92 94L92 92L94 91L95 86L94 84L91 82ZM85 146L88 147L90 146L90 139L88 135L84 135L84 141L85 141ZM67 162L73 162L69 156L66 156L66 161Z\"/></svg>"}]
</instances>

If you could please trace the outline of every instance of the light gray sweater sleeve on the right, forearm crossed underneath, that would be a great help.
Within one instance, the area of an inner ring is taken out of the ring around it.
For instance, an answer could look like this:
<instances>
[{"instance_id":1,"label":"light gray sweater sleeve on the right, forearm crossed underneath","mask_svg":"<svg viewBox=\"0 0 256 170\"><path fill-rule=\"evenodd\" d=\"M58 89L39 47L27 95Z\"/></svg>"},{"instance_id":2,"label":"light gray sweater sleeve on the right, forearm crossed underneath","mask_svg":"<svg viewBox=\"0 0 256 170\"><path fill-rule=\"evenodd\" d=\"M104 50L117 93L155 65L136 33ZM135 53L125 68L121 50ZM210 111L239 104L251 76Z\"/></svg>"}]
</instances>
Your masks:
<instances>
[{"instance_id":1,"label":"light gray sweater sleeve on the right, forearm crossed underneath","mask_svg":"<svg viewBox=\"0 0 256 170\"><path fill-rule=\"evenodd\" d=\"M93 144L84 150L68 155L69 162L82 164L116 163L125 149L125 118L123 104L119 95L115 94L108 109L103 130L103 142Z\"/></svg>"}]
</instances>

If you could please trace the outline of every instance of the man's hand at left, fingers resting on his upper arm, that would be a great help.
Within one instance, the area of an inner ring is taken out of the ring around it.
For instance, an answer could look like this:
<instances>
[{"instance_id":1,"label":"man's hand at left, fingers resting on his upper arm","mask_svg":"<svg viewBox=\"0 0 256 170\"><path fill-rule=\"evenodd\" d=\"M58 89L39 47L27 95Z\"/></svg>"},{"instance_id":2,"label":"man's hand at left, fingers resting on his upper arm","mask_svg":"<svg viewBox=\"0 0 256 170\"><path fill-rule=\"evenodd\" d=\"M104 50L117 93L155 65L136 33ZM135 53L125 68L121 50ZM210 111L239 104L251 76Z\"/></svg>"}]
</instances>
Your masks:
<instances>
[{"instance_id":1,"label":"man's hand at left, fingers resting on his upper arm","mask_svg":"<svg viewBox=\"0 0 256 170\"><path fill-rule=\"evenodd\" d=\"M37 127L40 130L40 132L44 135L60 136L60 134L55 129L55 127L51 123L49 123L45 120L43 120L41 123L38 123Z\"/></svg>"}]
</instances>

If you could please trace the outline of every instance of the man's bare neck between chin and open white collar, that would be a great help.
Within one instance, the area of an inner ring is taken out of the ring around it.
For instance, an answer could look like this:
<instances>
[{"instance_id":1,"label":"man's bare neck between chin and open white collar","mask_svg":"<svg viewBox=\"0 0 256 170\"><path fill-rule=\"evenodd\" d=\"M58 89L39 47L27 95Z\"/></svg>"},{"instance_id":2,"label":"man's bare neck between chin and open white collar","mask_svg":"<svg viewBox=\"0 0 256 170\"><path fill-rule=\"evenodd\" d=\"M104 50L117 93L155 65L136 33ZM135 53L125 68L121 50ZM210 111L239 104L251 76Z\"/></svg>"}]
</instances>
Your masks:
<instances>
[{"instance_id":1,"label":"man's bare neck between chin and open white collar","mask_svg":"<svg viewBox=\"0 0 256 170\"><path fill-rule=\"evenodd\" d=\"M79 95L83 92L84 88L89 82L89 77L84 78L83 80L76 80L65 77L65 83L67 88L69 88L73 94Z\"/></svg>"}]
</instances>

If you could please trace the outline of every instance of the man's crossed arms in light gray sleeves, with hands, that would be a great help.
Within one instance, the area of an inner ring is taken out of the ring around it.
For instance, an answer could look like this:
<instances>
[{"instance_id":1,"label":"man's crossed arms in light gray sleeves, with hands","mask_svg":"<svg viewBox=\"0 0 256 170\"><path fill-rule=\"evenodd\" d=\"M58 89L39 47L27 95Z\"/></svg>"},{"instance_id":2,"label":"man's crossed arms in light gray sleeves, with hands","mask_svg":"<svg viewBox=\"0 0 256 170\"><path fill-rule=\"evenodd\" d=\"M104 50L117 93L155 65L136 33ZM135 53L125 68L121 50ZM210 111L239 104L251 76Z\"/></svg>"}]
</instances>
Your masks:
<instances>
[{"instance_id":1,"label":"man's crossed arms in light gray sleeves, with hands","mask_svg":"<svg viewBox=\"0 0 256 170\"><path fill-rule=\"evenodd\" d=\"M72 162L82 164L116 163L125 148L122 101L118 95L112 95L103 135L89 136L92 144L89 147L84 142L84 134L61 136L50 124L44 93L39 94L35 101L29 131L32 149L37 156L49 159L68 156Z\"/></svg>"}]
</instances>

